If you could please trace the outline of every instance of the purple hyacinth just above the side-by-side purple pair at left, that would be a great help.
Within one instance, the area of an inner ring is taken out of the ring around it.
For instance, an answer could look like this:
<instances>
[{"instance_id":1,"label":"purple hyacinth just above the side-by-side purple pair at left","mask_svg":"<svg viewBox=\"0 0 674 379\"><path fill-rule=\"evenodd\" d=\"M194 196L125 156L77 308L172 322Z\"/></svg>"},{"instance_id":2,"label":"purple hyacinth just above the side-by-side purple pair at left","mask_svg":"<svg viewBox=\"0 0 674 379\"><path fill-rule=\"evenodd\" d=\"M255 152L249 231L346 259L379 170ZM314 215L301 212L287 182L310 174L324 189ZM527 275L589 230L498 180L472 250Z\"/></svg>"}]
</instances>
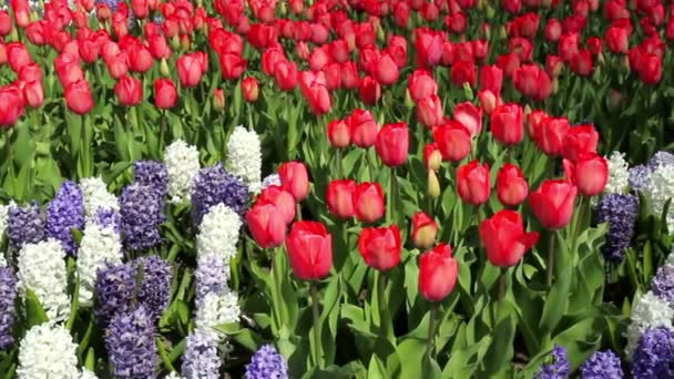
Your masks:
<instances>
[{"instance_id":1,"label":"purple hyacinth just above the side-by-side purple pair at left","mask_svg":"<svg viewBox=\"0 0 674 379\"><path fill-rule=\"evenodd\" d=\"M162 242L160 224L164 222L164 201L149 186L132 184L120 201L122 238L127 248L145 250Z\"/></svg>"}]
</instances>

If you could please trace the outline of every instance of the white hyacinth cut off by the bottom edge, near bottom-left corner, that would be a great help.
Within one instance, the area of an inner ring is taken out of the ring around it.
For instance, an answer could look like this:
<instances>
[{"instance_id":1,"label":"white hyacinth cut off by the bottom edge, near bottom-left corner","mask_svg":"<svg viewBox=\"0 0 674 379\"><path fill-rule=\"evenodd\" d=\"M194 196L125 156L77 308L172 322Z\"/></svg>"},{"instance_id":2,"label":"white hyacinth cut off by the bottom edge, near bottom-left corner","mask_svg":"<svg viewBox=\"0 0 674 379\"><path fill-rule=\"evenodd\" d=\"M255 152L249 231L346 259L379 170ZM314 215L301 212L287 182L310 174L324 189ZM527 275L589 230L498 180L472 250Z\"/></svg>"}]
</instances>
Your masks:
<instances>
[{"instance_id":1,"label":"white hyacinth cut off by the bottom edge, near bottom-left corner","mask_svg":"<svg viewBox=\"0 0 674 379\"><path fill-rule=\"evenodd\" d=\"M19 379L79 379L78 346L62 326L30 328L19 347Z\"/></svg>"}]
</instances>

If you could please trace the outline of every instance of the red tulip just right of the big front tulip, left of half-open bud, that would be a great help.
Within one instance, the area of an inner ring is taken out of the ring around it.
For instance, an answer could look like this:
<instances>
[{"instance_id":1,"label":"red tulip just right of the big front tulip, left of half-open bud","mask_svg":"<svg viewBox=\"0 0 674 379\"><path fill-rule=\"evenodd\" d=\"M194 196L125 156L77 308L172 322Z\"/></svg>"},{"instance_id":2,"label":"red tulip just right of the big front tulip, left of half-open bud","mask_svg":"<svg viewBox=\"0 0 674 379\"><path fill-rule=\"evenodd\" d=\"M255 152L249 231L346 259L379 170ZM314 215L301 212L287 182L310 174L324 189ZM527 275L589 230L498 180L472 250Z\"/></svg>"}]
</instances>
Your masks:
<instances>
[{"instance_id":1,"label":"red tulip just right of the big front tulip, left of half-open bud","mask_svg":"<svg viewBox=\"0 0 674 379\"><path fill-rule=\"evenodd\" d=\"M400 229L389 227L366 227L358 237L358 250L365 263L378 270L388 270L400 263Z\"/></svg>"}]
</instances>

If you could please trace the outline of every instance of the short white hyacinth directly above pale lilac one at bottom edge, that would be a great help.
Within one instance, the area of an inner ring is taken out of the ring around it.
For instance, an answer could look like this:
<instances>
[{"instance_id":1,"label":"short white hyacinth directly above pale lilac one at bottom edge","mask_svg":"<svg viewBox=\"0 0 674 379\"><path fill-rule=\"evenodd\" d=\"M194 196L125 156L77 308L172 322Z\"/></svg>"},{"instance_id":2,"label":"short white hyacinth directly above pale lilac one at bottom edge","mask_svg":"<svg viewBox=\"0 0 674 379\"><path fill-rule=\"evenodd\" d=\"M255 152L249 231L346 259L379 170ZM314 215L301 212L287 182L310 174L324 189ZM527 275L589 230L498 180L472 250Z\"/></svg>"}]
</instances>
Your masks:
<instances>
[{"instance_id":1,"label":"short white hyacinth directly above pale lilac one at bottom edge","mask_svg":"<svg viewBox=\"0 0 674 379\"><path fill-rule=\"evenodd\" d=\"M197 329L212 330L229 322L237 322L241 317L238 296L232 290L222 294L207 294L196 309L195 324Z\"/></svg>"}]
</instances>

